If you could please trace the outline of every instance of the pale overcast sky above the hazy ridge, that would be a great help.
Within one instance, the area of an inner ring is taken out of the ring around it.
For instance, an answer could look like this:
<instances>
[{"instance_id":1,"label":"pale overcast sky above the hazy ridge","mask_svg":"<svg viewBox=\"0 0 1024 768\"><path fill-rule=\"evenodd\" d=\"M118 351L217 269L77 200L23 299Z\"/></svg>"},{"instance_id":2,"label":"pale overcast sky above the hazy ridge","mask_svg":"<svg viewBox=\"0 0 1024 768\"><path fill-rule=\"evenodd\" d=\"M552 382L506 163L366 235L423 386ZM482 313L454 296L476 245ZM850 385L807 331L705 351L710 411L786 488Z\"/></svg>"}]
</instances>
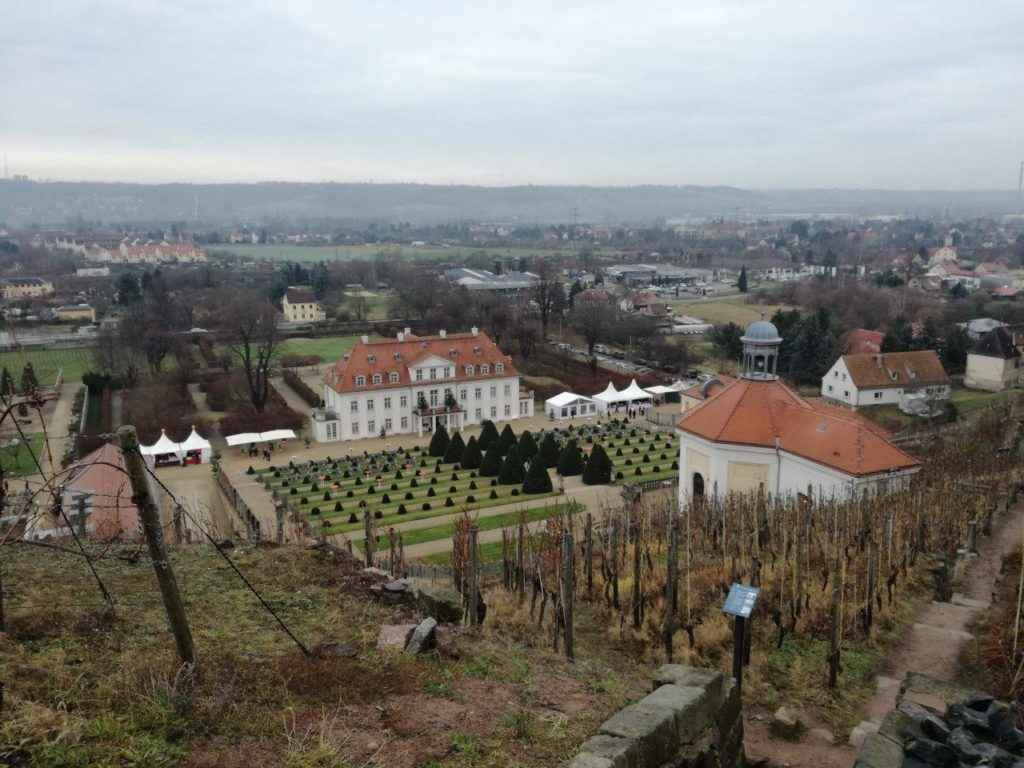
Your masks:
<instances>
[{"instance_id":1,"label":"pale overcast sky above the hazy ridge","mask_svg":"<svg viewBox=\"0 0 1024 768\"><path fill-rule=\"evenodd\" d=\"M35 178L1012 188L1022 0L11 0Z\"/></svg>"}]
</instances>

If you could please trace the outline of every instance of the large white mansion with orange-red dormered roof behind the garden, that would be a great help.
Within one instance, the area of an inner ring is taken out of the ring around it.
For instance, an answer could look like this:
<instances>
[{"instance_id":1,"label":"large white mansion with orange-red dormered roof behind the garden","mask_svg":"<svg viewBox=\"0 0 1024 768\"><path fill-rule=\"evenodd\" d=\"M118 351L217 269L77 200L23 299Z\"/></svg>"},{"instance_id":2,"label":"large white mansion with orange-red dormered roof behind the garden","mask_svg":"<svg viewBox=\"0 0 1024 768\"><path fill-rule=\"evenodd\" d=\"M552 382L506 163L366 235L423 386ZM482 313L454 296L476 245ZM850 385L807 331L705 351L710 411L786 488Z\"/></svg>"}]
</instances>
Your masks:
<instances>
[{"instance_id":1,"label":"large white mansion with orange-red dormered roof behind the garden","mask_svg":"<svg viewBox=\"0 0 1024 768\"><path fill-rule=\"evenodd\" d=\"M425 434L485 420L534 415L512 358L476 328L469 333L397 339L366 336L325 375L325 408L313 413L318 442Z\"/></svg>"}]
</instances>

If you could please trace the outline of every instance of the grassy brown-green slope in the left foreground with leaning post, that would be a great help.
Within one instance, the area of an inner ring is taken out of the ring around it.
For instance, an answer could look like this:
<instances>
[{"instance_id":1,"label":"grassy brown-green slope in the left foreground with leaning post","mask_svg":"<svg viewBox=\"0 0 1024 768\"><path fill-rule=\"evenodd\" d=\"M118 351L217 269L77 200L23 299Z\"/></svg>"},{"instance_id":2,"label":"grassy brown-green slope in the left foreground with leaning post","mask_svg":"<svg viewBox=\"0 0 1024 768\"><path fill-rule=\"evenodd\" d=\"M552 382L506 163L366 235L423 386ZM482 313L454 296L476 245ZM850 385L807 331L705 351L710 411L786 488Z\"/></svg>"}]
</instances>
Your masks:
<instances>
[{"instance_id":1,"label":"grassy brown-green slope in the left foreground with leaning post","mask_svg":"<svg viewBox=\"0 0 1024 768\"><path fill-rule=\"evenodd\" d=\"M508 621L456 638L455 656L382 653L381 624L413 616L356 596L347 567L300 548L232 557L307 645L349 642L356 657L305 658L216 553L195 548L171 558L200 659L190 681L146 560L98 562L119 604L110 616L81 559L5 550L4 764L553 768L648 685L586 606L577 665Z\"/></svg>"}]
</instances>

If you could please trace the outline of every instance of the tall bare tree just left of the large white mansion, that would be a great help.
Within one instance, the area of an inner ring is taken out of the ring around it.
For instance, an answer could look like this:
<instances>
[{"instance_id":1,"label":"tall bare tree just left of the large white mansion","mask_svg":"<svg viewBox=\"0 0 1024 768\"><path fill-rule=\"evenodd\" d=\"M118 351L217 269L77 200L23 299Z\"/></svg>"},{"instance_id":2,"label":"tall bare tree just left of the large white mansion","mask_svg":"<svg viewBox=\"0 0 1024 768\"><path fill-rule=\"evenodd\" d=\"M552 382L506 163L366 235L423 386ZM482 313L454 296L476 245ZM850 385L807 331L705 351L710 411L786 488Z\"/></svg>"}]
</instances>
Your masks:
<instances>
[{"instance_id":1,"label":"tall bare tree just left of the large white mansion","mask_svg":"<svg viewBox=\"0 0 1024 768\"><path fill-rule=\"evenodd\" d=\"M219 299L214 307L217 329L229 354L242 365L253 408L262 413L270 394L270 368L281 343L278 310L255 291L225 291Z\"/></svg>"}]
</instances>

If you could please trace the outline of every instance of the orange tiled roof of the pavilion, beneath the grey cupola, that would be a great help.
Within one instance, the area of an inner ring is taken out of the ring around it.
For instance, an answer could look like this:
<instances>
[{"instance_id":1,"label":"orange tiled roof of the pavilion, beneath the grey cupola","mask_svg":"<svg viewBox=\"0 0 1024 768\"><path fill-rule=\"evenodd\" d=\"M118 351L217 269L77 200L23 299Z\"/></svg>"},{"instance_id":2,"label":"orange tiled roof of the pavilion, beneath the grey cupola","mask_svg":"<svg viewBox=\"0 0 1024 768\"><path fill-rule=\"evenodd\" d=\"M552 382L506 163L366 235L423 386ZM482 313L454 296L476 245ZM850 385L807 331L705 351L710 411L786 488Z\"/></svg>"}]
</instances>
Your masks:
<instances>
[{"instance_id":1,"label":"orange tiled roof of the pavilion, beneath the grey cupola","mask_svg":"<svg viewBox=\"0 0 1024 768\"><path fill-rule=\"evenodd\" d=\"M884 430L839 411L780 381L739 379L686 413L679 429L714 442L778 449L854 476L919 466Z\"/></svg>"}]
</instances>

